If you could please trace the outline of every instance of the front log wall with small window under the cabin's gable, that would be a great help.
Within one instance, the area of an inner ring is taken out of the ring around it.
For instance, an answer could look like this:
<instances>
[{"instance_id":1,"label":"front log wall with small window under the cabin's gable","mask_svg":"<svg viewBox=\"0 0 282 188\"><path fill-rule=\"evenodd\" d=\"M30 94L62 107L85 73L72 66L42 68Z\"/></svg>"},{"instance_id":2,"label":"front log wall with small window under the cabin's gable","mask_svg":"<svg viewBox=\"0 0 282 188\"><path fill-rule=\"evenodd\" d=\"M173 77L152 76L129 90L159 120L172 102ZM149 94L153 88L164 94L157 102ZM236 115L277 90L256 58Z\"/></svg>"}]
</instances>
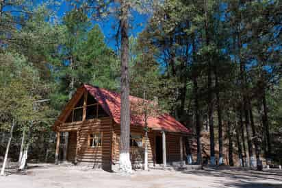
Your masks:
<instances>
[{"instance_id":1,"label":"front log wall with small window under the cabin's gable","mask_svg":"<svg viewBox=\"0 0 282 188\"><path fill-rule=\"evenodd\" d=\"M87 121L62 124L60 132L74 132L71 134L71 143L75 144L76 150L71 150L68 158L77 162L93 163L97 167L109 168L112 160L112 118L102 117L100 119L90 119ZM101 132L102 145L97 148L88 147L88 136L90 133ZM77 135L77 136L75 136ZM72 144L71 144L72 145Z\"/></svg>"}]
</instances>

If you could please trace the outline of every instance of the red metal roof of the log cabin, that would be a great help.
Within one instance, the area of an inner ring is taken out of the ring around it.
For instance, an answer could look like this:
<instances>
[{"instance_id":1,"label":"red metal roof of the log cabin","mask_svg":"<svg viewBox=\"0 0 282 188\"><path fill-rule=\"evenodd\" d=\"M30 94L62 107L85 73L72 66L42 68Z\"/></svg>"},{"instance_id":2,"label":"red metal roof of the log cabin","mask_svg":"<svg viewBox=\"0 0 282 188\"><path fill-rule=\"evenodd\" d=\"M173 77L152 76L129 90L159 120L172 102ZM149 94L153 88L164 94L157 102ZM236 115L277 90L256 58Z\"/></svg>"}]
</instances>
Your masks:
<instances>
[{"instance_id":1,"label":"red metal roof of the log cabin","mask_svg":"<svg viewBox=\"0 0 282 188\"><path fill-rule=\"evenodd\" d=\"M86 90L99 102L102 108L114 119L116 124L120 124L120 94L107 89L101 89L97 86L84 84ZM129 96L131 106L142 104L143 99ZM168 114L149 117L147 120L149 128L153 130L166 130L168 132L191 133L191 130L185 128L179 121ZM144 126L142 115L131 112L131 125Z\"/></svg>"}]
</instances>

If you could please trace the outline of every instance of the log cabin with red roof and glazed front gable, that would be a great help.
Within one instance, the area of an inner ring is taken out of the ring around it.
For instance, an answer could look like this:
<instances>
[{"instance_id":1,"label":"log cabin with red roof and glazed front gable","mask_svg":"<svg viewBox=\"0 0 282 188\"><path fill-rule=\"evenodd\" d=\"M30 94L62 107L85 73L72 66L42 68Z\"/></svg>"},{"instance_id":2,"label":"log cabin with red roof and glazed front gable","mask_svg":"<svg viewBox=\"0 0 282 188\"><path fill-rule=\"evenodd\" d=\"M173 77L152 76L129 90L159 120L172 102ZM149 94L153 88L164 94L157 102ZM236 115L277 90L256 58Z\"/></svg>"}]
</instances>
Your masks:
<instances>
[{"instance_id":1,"label":"log cabin with red roof and glazed front gable","mask_svg":"<svg viewBox=\"0 0 282 188\"><path fill-rule=\"evenodd\" d=\"M143 99L129 96L130 106ZM144 143L149 167L185 161L185 139L191 131L164 113L151 115L144 128L142 115L131 109L130 158L133 168L144 164ZM120 143L120 94L83 84L66 104L53 126L57 135L55 163L70 161L117 170ZM145 137L145 131L148 137Z\"/></svg>"}]
</instances>

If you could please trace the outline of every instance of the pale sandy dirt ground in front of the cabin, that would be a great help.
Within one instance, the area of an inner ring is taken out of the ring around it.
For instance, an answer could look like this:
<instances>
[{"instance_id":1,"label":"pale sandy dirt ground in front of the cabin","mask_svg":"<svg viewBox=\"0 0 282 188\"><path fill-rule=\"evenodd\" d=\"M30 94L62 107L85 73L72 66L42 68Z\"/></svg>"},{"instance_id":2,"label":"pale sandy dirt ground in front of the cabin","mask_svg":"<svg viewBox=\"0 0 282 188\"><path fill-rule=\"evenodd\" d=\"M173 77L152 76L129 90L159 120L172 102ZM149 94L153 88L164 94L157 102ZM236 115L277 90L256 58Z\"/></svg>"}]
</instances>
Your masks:
<instances>
[{"instance_id":1,"label":"pale sandy dirt ground in front of the cabin","mask_svg":"<svg viewBox=\"0 0 282 188\"><path fill-rule=\"evenodd\" d=\"M0 188L38 187L281 187L282 170L269 169L257 172L230 167L203 170L174 171L151 169L121 175L103 170L73 165L29 165L27 174L8 169L0 176Z\"/></svg>"}]
</instances>

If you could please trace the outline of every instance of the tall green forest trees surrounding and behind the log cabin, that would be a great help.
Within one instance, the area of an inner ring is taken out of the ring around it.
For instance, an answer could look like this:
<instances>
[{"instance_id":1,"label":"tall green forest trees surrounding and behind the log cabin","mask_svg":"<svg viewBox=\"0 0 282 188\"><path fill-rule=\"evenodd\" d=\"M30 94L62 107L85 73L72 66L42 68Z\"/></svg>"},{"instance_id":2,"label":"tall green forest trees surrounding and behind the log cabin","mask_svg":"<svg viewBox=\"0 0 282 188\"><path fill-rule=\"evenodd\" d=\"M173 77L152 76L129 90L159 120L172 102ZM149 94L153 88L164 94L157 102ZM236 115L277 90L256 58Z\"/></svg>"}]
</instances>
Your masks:
<instances>
[{"instance_id":1,"label":"tall green forest trees surrounding and behind the log cabin","mask_svg":"<svg viewBox=\"0 0 282 188\"><path fill-rule=\"evenodd\" d=\"M211 165L282 163L282 1L68 1L64 16L57 3L0 0L0 156L53 162L51 126L88 83L157 99L192 129L198 164L204 133ZM134 37L136 14L149 21Z\"/></svg>"}]
</instances>

